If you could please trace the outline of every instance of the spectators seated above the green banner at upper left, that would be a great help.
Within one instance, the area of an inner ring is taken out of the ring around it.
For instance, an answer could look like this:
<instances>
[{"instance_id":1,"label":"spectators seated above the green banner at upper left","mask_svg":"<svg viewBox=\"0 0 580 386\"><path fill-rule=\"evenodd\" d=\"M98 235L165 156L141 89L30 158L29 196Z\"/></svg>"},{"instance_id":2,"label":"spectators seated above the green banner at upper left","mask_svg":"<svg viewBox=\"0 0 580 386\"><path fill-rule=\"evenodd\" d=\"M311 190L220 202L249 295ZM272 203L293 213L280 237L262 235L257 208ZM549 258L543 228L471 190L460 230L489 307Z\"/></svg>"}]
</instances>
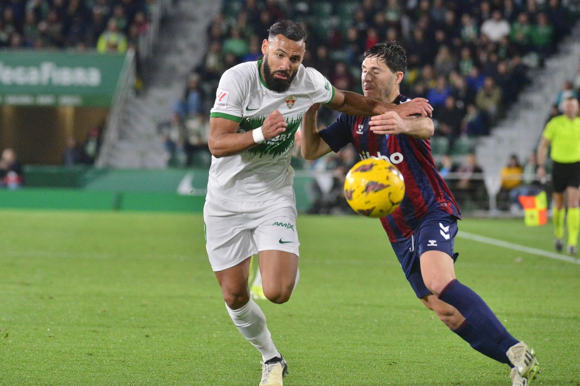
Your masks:
<instances>
[{"instance_id":1,"label":"spectators seated above the green banner at upper left","mask_svg":"<svg viewBox=\"0 0 580 386\"><path fill-rule=\"evenodd\" d=\"M0 49L137 49L155 0L3 0Z\"/></svg>"}]
</instances>

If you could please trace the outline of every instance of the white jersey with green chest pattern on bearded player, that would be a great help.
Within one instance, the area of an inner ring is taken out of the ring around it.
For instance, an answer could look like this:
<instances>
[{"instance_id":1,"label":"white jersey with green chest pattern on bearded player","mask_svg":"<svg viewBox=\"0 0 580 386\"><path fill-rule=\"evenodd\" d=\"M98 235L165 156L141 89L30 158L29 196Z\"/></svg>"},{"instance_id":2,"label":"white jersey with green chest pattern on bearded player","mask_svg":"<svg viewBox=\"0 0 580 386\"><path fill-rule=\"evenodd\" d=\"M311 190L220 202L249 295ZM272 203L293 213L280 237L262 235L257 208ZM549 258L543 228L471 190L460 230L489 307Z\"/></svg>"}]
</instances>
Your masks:
<instances>
[{"instance_id":1,"label":"white jersey with green chest pattern on bearded player","mask_svg":"<svg viewBox=\"0 0 580 386\"><path fill-rule=\"evenodd\" d=\"M262 78L261 64L262 60L251 61L224 72L210 116L240 122L238 132L243 133L260 128L266 116L278 109L288 127L276 138L242 154L212 156L208 196L245 202L291 195L294 134L311 105L328 103L334 97L330 82L314 68L302 64L288 91L273 92Z\"/></svg>"}]
</instances>

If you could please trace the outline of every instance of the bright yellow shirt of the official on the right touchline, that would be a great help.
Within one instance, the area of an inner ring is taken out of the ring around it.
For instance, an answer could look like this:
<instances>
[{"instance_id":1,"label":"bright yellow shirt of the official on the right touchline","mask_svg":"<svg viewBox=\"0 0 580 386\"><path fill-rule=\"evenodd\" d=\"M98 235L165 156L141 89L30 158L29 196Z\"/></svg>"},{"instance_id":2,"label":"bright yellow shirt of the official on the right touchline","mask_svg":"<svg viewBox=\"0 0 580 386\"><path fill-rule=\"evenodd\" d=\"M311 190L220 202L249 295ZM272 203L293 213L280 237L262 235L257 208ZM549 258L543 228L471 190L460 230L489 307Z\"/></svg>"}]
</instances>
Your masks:
<instances>
[{"instance_id":1,"label":"bright yellow shirt of the official on the right touchline","mask_svg":"<svg viewBox=\"0 0 580 386\"><path fill-rule=\"evenodd\" d=\"M550 140L550 157L560 163L580 161L580 118L554 116L544 129L543 136Z\"/></svg>"}]
</instances>

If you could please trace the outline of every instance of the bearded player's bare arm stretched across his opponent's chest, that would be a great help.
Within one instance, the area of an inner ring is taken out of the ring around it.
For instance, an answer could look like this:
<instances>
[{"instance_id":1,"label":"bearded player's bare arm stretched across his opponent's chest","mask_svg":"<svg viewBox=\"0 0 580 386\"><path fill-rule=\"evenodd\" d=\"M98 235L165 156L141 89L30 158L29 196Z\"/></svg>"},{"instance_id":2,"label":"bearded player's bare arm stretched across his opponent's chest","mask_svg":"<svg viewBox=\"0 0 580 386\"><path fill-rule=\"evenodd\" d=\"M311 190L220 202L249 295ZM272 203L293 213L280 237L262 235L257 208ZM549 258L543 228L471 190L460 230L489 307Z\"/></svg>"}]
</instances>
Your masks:
<instances>
[{"instance_id":1,"label":"bearded player's bare arm stretched across his opponent's chest","mask_svg":"<svg viewBox=\"0 0 580 386\"><path fill-rule=\"evenodd\" d=\"M333 87L333 86L331 86ZM335 89L334 97L325 104L332 110L344 112L349 115L373 116L383 114L387 111L395 111L398 115L406 118L415 114L431 116L433 107L426 99L415 98L403 104L383 103L379 100L362 96L350 91L340 91Z\"/></svg>"}]
</instances>

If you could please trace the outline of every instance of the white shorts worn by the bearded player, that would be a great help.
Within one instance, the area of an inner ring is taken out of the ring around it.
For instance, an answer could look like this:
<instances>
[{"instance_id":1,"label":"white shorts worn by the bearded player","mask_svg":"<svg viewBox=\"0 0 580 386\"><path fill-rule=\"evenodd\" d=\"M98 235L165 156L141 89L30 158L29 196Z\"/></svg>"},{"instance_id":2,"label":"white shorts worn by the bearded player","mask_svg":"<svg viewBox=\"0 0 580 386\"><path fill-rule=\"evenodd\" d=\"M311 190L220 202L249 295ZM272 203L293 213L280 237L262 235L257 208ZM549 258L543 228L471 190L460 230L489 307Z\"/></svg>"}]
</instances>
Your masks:
<instances>
[{"instance_id":1,"label":"white shorts worn by the bearded player","mask_svg":"<svg viewBox=\"0 0 580 386\"><path fill-rule=\"evenodd\" d=\"M206 198L205 248L213 271L240 264L261 250L282 250L299 256L294 196L262 202Z\"/></svg>"}]
</instances>

